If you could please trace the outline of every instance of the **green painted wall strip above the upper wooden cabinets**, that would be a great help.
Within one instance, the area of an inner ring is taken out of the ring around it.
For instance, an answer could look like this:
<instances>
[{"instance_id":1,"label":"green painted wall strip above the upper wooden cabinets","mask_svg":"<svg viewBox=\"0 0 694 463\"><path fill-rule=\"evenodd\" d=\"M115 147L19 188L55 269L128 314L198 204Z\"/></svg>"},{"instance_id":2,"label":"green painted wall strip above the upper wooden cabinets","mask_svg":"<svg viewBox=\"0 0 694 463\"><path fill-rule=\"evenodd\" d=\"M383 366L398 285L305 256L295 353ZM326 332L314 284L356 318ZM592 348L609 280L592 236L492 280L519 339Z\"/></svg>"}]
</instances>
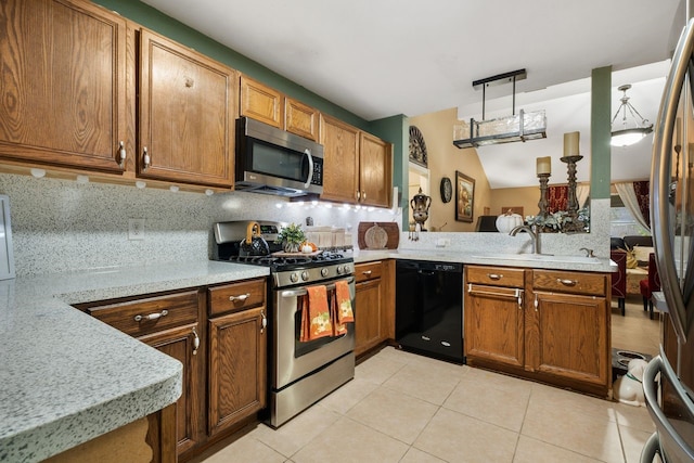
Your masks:
<instances>
[{"instance_id":1,"label":"green painted wall strip above the upper wooden cabinets","mask_svg":"<svg viewBox=\"0 0 694 463\"><path fill-rule=\"evenodd\" d=\"M287 95L372 132L369 121L138 0L92 0L124 17L240 70ZM195 2L191 2L195 8ZM387 139L386 139L387 140Z\"/></svg>"}]
</instances>

